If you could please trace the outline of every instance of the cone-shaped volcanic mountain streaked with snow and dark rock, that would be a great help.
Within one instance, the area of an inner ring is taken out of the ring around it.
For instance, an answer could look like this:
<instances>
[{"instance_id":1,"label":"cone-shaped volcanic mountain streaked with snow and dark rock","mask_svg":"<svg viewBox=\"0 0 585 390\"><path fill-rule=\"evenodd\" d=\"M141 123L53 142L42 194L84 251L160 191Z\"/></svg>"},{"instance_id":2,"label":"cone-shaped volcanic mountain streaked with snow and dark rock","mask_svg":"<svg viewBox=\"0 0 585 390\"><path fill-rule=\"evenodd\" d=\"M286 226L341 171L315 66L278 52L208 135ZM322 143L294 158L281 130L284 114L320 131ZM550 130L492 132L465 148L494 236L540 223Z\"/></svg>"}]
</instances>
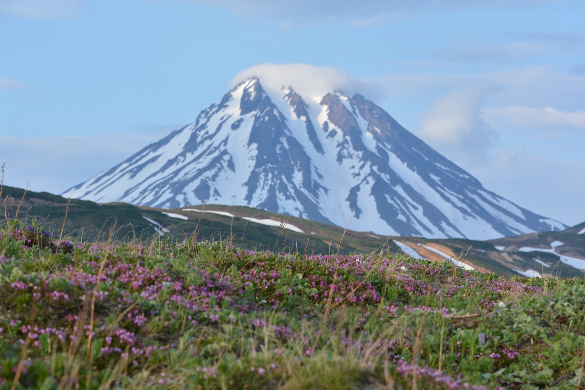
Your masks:
<instances>
[{"instance_id":1,"label":"cone-shaped volcanic mountain streaked with snow and dark rock","mask_svg":"<svg viewBox=\"0 0 585 390\"><path fill-rule=\"evenodd\" d=\"M178 208L205 202L393 236L495 239L563 230L487 191L362 95L240 82L197 121L64 196Z\"/></svg>"}]
</instances>

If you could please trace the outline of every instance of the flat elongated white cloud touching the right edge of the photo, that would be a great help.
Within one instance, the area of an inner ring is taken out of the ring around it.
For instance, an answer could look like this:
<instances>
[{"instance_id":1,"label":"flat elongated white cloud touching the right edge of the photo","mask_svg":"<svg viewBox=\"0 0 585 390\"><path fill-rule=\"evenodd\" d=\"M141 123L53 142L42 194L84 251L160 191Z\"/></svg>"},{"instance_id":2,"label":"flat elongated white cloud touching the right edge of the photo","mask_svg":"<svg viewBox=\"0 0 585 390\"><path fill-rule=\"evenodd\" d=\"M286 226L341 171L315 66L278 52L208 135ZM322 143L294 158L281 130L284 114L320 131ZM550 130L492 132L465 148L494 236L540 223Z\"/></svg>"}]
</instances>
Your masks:
<instances>
[{"instance_id":1,"label":"flat elongated white cloud touching the right edge of the photo","mask_svg":"<svg viewBox=\"0 0 585 390\"><path fill-rule=\"evenodd\" d=\"M526 106L508 106L486 108L483 110L490 123L507 120L515 126L527 130L585 130L585 110L576 112L559 111L552 107L532 108Z\"/></svg>"}]
</instances>

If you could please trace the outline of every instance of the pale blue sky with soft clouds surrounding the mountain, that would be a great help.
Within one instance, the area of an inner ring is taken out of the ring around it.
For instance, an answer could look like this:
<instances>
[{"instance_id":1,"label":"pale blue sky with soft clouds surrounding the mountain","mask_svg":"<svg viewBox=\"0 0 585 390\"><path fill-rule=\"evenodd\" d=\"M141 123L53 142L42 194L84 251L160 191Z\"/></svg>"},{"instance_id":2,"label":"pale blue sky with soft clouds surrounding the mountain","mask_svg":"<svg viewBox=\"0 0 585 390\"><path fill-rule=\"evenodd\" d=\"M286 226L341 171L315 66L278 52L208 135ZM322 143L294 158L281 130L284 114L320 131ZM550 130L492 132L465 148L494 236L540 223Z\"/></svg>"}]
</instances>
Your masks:
<instances>
[{"instance_id":1,"label":"pale blue sky with soft clouds surrounding the mountain","mask_svg":"<svg viewBox=\"0 0 585 390\"><path fill-rule=\"evenodd\" d=\"M311 64L484 187L574 225L583 20L570 0L0 0L5 183L63 192L194 122L247 68Z\"/></svg>"}]
</instances>

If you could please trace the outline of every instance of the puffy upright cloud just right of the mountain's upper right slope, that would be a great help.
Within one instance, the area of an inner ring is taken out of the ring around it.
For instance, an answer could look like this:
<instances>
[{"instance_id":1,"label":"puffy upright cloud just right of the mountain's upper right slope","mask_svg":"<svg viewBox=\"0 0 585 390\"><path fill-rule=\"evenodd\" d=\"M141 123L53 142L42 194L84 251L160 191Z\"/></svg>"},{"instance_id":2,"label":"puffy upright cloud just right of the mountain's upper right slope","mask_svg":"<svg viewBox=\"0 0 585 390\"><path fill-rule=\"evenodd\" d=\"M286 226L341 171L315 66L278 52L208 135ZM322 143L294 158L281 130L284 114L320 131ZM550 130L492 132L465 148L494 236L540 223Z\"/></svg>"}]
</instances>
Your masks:
<instances>
[{"instance_id":1,"label":"puffy upright cloud just right of the mountain's upper right slope","mask_svg":"<svg viewBox=\"0 0 585 390\"><path fill-rule=\"evenodd\" d=\"M479 83L441 96L421 114L417 135L457 164L485 162L497 133L483 120L481 104L495 91L495 85Z\"/></svg>"}]
</instances>

